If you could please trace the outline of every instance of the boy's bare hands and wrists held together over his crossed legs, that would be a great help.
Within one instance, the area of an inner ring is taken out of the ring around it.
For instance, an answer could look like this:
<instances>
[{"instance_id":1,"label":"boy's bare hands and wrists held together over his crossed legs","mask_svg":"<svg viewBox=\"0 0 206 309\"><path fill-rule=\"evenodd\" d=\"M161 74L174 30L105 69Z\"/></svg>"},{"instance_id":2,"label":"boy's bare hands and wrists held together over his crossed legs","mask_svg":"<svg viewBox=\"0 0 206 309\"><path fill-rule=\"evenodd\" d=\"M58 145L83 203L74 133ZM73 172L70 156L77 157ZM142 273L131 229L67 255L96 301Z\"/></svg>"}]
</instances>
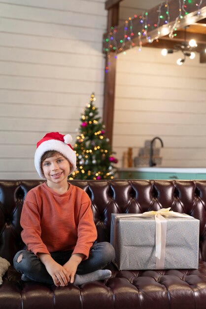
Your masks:
<instances>
[{"instance_id":1,"label":"boy's bare hands and wrists held together over his crossed legs","mask_svg":"<svg viewBox=\"0 0 206 309\"><path fill-rule=\"evenodd\" d=\"M84 254L73 254L69 261L64 266L61 266L49 254L38 253L37 255L56 286L66 286L68 282L73 283L77 267L85 257Z\"/></svg>"}]
</instances>

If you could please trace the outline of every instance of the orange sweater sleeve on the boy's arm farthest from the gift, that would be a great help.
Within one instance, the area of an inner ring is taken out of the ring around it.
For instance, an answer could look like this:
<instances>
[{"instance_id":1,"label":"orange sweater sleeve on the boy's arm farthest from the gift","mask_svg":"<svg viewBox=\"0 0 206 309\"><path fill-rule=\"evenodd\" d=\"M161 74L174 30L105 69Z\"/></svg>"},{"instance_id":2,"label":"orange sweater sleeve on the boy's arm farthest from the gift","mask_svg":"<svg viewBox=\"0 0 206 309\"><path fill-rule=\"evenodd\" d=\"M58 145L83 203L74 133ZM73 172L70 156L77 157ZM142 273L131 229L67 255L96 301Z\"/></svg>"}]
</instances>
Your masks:
<instances>
[{"instance_id":1,"label":"orange sweater sleeve on the boy's arm farthest from the gift","mask_svg":"<svg viewBox=\"0 0 206 309\"><path fill-rule=\"evenodd\" d=\"M40 214L37 205L25 199L21 220L23 231L21 232L22 240L27 245L28 250L34 254L50 254L46 245L41 240Z\"/></svg>"}]
</instances>

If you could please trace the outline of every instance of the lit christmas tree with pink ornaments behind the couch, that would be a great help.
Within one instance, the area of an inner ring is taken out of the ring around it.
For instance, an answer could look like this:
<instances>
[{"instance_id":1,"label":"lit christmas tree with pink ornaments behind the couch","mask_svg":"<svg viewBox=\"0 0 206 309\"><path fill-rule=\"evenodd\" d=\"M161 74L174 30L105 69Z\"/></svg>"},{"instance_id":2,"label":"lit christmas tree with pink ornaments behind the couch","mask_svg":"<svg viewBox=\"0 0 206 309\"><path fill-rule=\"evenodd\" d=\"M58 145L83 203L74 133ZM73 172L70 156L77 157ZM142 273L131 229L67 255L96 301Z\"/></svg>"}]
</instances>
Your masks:
<instances>
[{"instance_id":1,"label":"lit christmas tree with pink ornaments behind the couch","mask_svg":"<svg viewBox=\"0 0 206 309\"><path fill-rule=\"evenodd\" d=\"M117 163L112 155L109 140L105 136L105 127L98 116L94 105L95 95L91 95L90 103L81 116L79 135L76 137L77 170L70 179L113 179L113 163Z\"/></svg>"}]
</instances>

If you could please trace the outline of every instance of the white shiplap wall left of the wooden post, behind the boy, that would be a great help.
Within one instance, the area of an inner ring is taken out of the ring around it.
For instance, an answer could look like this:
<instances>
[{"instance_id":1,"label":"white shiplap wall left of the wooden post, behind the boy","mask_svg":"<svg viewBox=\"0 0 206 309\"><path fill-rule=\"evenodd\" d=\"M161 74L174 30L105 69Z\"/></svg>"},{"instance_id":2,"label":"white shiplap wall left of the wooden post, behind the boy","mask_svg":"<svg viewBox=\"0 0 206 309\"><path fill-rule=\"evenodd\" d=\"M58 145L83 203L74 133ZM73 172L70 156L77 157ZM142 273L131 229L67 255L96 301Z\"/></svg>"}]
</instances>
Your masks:
<instances>
[{"instance_id":1,"label":"white shiplap wall left of the wooden post, behind the boy","mask_svg":"<svg viewBox=\"0 0 206 309\"><path fill-rule=\"evenodd\" d=\"M103 112L104 0L0 1L0 179L35 179L35 143Z\"/></svg>"}]
</instances>

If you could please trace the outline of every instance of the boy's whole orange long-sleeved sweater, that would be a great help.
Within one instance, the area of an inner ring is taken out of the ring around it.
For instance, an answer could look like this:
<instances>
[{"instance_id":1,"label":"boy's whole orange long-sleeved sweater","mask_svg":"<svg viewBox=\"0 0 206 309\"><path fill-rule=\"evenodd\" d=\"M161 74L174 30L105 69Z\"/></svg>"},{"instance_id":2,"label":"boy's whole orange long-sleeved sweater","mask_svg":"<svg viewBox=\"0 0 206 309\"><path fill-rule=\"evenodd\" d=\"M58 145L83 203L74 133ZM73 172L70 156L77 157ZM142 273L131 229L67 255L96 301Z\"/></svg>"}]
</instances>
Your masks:
<instances>
[{"instance_id":1,"label":"boy's whole orange long-sleeved sweater","mask_svg":"<svg viewBox=\"0 0 206 309\"><path fill-rule=\"evenodd\" d=\"M88 258L97 230L91 200L82 189L70 184L58 194L44 183L27 193L21 233L28 250L36 253L73 250Z\"/></svg>"}]
</instances>

